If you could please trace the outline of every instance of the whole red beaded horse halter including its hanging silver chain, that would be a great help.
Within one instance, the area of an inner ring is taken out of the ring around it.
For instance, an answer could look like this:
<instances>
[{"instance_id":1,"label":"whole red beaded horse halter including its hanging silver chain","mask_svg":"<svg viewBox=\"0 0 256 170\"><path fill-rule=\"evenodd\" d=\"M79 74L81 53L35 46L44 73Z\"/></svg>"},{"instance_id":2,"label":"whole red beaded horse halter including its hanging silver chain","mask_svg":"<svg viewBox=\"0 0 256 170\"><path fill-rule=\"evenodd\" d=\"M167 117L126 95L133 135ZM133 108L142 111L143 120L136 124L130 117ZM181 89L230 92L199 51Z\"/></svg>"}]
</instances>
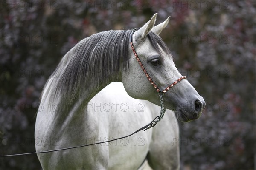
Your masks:
<instances>
[{"instance_id":1,"label":"whole red beaded horse halter including its hanging silver chain","mask_svg":"<svg viewBox=\"0 0 256 170\"><path fill-rule=\"evenodd\" d=\"M173 82L171 85L169 85L167 88L165 88L163 91L161 91L158 86L156 85L156 83L152 80L152 78L149 76L148 72L146 71L145 67L143 66L142 62L140 61L140 58L138 57L135 49L134 49L134 43L132 42L132 35L134 34L135 31L137 31L138 29L140 28L135 28L131 31L131 34L130 34L130 37L129 37L129 42L130 42L130 45L131 45L131 49L134 53L134 56L136 57L137 59L137 62L139 63L140 67L142 68L143 72L145 73L145 76L147 77L148 81L151 83L151 85L154 86L154 88L157 90L157 92L159 93L159 96L160 96L160 104L161 104L161 111L160 111L160 115L157 116L156 118L158 118L158 120L153 120L151 121L151 125L148 126L148 129L151 128L151 127L154 127L157 122L159 122L161 119L163 119L163 116L164 116L164 113L166 111L166 108L164 107L163 105L163 95L166 93L166 91L168 91L170 88L172 88L174 85L176 85L178 82L180 82L181 80L183 79L186 79L186 76L182 76L180 77L179 79L177 79L175 82Z\"/></svg>"}]
</instances>

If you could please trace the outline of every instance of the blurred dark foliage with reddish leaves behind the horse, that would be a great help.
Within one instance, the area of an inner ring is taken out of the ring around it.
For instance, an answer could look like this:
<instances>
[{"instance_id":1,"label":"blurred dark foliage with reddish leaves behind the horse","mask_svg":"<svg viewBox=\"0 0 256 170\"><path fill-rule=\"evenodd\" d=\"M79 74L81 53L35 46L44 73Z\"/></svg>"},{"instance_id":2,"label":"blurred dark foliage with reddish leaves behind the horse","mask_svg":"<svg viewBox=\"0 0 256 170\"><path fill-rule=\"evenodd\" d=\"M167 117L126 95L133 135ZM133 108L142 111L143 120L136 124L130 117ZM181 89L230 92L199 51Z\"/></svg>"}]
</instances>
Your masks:
<instances>
[{"instance_id":1,"label":"blurred dark foliage with reddish leaves behind the horse","mask_svg":"<svg viewBox=\"0 0 256 170\"><path fill-rule=\"evenodd\" d=\"M91 34L157 24L177 68L204 97L200 119L180 123L181 169L256 168L255 0L1 0L0 155L33 152L35 113L61 57ZM40 169L34 156L0 169Z\"/></svg>"}]
</instances>

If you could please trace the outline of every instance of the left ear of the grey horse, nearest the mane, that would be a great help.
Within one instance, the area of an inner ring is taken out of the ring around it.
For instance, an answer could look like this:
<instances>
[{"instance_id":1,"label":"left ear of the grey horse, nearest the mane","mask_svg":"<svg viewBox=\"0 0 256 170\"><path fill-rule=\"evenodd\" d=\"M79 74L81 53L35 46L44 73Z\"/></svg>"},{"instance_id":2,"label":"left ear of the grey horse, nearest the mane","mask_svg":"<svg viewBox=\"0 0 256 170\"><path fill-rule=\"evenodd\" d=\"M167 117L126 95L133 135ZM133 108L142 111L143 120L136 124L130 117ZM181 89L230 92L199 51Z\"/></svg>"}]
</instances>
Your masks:
<instances>
[{"instance_id":1,"label":"left ear of the grey horse, nearest the mane","mask_svg":"<svg viewBox=\"0 0 256 170\"><path fill-rule=\"evenodd\" d=\"M134 33L136 41L143 40L148 35L149 31L151 31L151 29L154 27L156 18L157 13L154 14L153 17L147 23L145 23L144 26L142 26L138 31Z\"/></svg>"}]
</instances>

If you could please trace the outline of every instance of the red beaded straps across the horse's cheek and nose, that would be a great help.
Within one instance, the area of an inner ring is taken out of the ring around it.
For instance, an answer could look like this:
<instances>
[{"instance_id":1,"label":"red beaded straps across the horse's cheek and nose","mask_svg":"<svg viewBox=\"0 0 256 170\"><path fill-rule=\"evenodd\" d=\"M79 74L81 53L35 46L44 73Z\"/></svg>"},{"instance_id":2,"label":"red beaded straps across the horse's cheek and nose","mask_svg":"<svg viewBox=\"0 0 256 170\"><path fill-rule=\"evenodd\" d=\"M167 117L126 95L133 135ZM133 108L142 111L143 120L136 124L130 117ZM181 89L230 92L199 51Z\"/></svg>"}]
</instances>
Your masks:
<instances>
[{"instance_id":1,"label":"red beaded straps across the horse's cheek and nose","mask_svg":"<svg viewBox=\"0 0 256 170\"><path fill-rule=\"evenodd\" d=\"M140 65L140 67L142 68L143 72L145 73L146 77L147 77L148 80L150 81L151 85L153 85L154 88L157 89L157 92L160 92L160 89L157 87L157 85L156 85L156 84L154 83L154 81L151 79L151 77L150 77L149 74L147 73L146 69L144 68L142 62L140 61L140 59L139 59L139 57L138 57L138 55L137 55L137 53L136 53L136 51L135 51L135 49L134 49L133 42L130 42L130 44L131 44L131 49L132 49L132 51L133 51L133 53L134 53L134 56L136 57L137 62L139 62L139 65ZM163 90L163 93L165 93L166 91L168 91L170 88L172 88L174 85L176 85L178 82L180 82L180 81L183 80L183 79L186 79L186 76L182 76L182 77L180 77L179 79L177 79L174 83L172 83L172 84L169 85L167 88L165 88L165 89Z\"/></svg>"}]
</instances>

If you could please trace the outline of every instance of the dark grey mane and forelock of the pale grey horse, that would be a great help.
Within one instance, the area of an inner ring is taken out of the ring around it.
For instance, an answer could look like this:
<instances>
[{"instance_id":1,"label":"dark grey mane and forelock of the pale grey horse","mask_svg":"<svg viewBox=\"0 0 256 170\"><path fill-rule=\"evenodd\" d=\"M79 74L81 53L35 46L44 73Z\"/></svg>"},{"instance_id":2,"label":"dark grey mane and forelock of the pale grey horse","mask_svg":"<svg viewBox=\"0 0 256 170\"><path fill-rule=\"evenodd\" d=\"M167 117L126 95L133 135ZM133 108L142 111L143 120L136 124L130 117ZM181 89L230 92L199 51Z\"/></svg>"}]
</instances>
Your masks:
<instances>
[{"instance_id":1,"label":"dark grey mane and forelock of the pale grey horse","mask_svg":"<svg viewBox=\"0 0 256 170\"><path fill-rule=\"evenodd\" d=\"M50 95L52 103L58 102L58 98L61 97L61 101L72 104L84 94L88 85L99 88L102 82L105 84L107 79L117 77L120 59L123 68L129 70L130 34L131 30L110 30L93 34L78 42L61 59L48 79L43 94ZM161 54L160 48L171 54L157 34L150 31L148 38L159 54Z\"/></svg>"}]
</instances>

